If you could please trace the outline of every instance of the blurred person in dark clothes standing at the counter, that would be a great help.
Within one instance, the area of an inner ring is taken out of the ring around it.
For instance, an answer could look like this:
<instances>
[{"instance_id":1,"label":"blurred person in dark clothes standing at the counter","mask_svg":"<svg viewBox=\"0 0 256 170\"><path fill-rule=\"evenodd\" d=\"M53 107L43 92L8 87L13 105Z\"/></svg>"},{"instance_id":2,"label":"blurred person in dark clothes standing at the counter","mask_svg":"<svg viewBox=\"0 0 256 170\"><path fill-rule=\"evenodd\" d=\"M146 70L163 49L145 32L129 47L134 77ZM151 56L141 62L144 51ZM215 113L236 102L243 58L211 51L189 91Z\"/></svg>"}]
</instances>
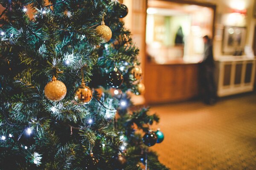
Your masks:
<instances>
[{"instance_id":1,"label":"blurred person in dark clothes standing at the counter","mask_svg":"<svg viewBox=\"0 0 256 170\"><path fill-rule=\"evenodd\" d=\"M206 104L214 104L217 99L216 86L214 81L214 59L212 54L212 42L206 35L204 40L204 58L199 65L200 84L202 87L203 99Z\"/></svg>"}]
</instances>

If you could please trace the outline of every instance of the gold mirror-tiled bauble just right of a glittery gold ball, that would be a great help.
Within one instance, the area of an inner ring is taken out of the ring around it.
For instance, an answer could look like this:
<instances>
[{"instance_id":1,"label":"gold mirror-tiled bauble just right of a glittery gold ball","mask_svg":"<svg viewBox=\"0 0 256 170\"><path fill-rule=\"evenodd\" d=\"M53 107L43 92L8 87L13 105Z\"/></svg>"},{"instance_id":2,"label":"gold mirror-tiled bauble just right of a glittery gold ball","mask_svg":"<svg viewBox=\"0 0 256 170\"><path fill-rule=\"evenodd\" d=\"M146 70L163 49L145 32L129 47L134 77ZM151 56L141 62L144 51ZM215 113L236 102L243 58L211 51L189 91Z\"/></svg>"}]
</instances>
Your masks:
<instances>
[{"instance_id":1,"label":"gold mirror-tiled bauble just right of a glittery gold ball","mask_svg":"<svg viewBox=\"0 0 256 170\"><path fill-rule=\"evenodd\" d=\"M88 104L93 98L93 92L91 89L85 85L82 81L81 86L76 89L75 101L81 105Z\"/></svg>"}]
</instances>

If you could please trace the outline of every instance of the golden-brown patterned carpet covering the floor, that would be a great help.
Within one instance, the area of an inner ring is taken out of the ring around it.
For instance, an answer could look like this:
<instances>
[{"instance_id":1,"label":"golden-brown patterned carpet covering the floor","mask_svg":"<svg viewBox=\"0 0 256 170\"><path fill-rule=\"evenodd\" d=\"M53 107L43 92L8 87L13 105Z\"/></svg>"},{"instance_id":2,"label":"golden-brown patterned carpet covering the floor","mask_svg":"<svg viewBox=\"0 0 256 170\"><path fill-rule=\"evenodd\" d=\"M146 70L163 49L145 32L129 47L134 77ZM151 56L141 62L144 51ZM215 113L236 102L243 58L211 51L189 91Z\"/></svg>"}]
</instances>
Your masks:
<instances>
[{"instance_id":1,"label":"golden-brown patterned carpet covering the floor","mask_svg":"<svg viewBox=\"0 0 256 170\"><path fill-rule=\"evenodd\" d=\"M256 93L153 106L165 139L151 147L171 170L256 170Z\"/></svg>"}]
</instances>

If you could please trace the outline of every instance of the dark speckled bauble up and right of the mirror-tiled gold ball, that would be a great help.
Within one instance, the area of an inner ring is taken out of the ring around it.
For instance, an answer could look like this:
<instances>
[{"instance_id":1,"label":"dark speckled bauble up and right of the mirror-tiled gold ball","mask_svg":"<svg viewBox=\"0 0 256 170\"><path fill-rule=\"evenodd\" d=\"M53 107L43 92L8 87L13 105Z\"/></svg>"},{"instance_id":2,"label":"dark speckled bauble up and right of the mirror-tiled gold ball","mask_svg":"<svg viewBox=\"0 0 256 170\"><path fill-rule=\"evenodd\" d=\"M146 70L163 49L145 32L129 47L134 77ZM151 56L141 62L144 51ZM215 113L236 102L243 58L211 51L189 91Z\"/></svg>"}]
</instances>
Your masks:
<instances>
[{"instance_id":1,"label":"dark speckled bauble up and right of the mirror-tiled gold ball","mask_svg":"<svg viewBox=\"0 0 256 170\"><path fill-rule=\"evenodd\" d=\"M122 82L123 82L123 76L119 71L117 70L111 71L108 74L107 83L112 88L119 88L122 85Z\"/></svg>"}]
</instances>

